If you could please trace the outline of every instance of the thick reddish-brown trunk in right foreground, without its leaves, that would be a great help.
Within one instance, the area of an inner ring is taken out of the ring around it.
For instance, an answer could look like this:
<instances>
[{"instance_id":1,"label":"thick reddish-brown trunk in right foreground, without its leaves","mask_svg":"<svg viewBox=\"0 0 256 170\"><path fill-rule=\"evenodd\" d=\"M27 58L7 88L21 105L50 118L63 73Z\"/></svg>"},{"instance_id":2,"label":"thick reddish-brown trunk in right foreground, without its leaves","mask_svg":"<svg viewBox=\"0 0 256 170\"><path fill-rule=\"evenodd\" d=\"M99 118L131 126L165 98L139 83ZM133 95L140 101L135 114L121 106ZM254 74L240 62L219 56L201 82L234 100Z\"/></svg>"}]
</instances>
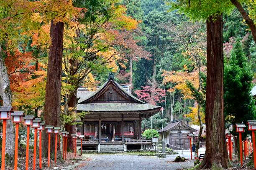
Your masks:
<instances>
[{"instance_id":1,"label":"thick reddish-brown trunk in right foreground, without its leaves","mask_svg":"<svg viewBox=\"0 0 256 170\"><path fill-rule=\"evenodd\" d=\"M206 152L199 168L230 166L225 139L223 108L223 20L207 19Z\"/></svg>"}]
</instances>

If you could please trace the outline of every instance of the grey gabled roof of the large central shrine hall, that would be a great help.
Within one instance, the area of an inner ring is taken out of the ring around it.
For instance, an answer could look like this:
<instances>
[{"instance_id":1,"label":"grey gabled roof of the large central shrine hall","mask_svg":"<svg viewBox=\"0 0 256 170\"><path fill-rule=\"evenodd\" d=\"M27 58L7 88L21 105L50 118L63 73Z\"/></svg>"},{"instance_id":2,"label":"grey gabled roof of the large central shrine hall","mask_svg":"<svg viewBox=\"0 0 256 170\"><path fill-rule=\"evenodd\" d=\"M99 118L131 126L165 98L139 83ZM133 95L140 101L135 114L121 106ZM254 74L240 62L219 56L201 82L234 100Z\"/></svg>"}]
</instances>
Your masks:
<instances>
[{"instance_id":1,"label":"grey gabled roof of the large central shrine hall","mask_svg":"<svg viewBox=\"0 0 256 170\"><path fill-rule=\"evenodd\" d=\"M80 96L78 96L80 97ZM81 96L82 97L82 96ZM150 113L148 117L159 112L161 106L145 103L115 82L113 74L108 81L92 92L77 105L77 111L87 112L136 112Z\"/></svg>"}]
</instances>

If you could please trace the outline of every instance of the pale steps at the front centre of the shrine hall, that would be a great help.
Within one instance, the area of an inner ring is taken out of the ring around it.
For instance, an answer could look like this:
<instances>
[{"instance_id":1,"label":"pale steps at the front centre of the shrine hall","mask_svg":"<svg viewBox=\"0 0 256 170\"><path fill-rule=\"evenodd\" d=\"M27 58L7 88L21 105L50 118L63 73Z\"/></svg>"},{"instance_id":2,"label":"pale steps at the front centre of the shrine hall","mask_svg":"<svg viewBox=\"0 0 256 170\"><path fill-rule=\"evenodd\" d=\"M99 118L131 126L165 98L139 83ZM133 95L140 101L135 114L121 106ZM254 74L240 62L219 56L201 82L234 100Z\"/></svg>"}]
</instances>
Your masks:
<instances>
[{"instance_id":1,"label":"pale steps at the front centre of the shrine hall","mask_svg":"<svg viewBox=\"0 0 256 170\"><path fill-rule=\"evenodd\" d=\"M98 153L124 153L126 147L124 144L117 145L98 145Z\"/></svg>"}]
</instances>

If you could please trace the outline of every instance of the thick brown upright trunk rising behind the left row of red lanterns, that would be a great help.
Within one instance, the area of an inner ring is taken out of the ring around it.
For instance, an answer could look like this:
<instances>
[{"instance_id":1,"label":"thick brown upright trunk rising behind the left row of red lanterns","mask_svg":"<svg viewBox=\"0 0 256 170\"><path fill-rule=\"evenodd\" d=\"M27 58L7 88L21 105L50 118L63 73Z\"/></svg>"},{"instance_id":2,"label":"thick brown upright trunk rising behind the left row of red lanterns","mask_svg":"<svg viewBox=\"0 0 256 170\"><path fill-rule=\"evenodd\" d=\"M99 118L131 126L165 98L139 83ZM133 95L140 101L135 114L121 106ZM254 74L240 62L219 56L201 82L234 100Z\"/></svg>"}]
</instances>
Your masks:
<instances>
[{"instance_id":1,"label":"thick brown upright trunk rising behind the left row of red lanterns","mask_svg":"<svg viewBox=\"0 0 256 170\"><path fill-rule=\"evenodd\" d=\"M46 125L60 126L63 31L64 23L54 23L54 21L51 20L51 46L49 50L49 58L47 65L46 95L44 106L44 121ZM42 136L42 155L44 157L47 157L48 135L44 131ZM51 135L51 139L51 158L54 158L54 135ZM57 148L57 153L57 159L63 161L59 145Z\"/></svg>"}]
</instances>

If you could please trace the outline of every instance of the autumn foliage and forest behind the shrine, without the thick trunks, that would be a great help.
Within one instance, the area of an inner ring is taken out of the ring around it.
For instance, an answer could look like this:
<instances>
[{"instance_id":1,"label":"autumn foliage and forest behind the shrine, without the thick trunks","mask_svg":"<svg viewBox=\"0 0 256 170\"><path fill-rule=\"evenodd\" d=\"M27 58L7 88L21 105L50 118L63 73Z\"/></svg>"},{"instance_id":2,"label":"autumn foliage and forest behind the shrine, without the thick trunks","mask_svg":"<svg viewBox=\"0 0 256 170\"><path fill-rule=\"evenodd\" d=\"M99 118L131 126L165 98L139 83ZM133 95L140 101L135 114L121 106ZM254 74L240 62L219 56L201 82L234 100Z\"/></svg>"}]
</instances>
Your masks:
<instances>
[{"instance_id":1,"label":"autumn foliage and forest behind the shrine, without the thick trunks","mask_svg":"<svg viewBox=\"0 0 256 170\"><path fill-rule=\"evenodd\" d=\"M64 23L63 127L70 128L85 114L75 112L77 88L95 90L110 72L121 85L131 85L139 99L163 106L163 112L152 117L153 129L161 128L161 117L164 126L178 119L199 125L198 114L201 123L205 122L205 21L192 21L170 10L171 5L164 0L74 0L64 5L41 2L3 1L0 8L0 45L13 106L26 114L44 116L50 20L54 18ZM248 4L243 4L244 8L253 12L255 4ZM255 18L255 13L251 16ZM251 89L256 83L256 45L251 31L235 7L223 14L223 20L225 68L238 69L231 68L236 65L232 59L241 53L247 63L246 84ZM225 80L228 77L224 77L224 90L228 92L224 99L236 93ZM235 119L225 114L227 122ZM151 128L151 119L143 120L142 128Z\"/></svg>"}]
</instances>

